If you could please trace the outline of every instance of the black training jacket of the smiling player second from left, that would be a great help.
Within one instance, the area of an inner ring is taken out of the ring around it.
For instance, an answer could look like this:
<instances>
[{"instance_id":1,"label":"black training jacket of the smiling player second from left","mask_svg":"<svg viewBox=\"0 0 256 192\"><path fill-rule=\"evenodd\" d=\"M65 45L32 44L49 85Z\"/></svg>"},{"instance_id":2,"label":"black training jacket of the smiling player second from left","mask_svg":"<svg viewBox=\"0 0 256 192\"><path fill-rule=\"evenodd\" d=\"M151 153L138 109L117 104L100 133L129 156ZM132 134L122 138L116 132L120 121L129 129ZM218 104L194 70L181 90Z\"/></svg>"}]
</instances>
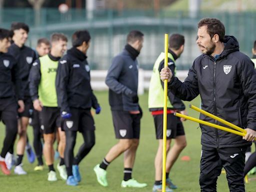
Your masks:
<instances>
[{"instance_id":1,"label":"black training jacket of the smiling player second from left","mask_svg":"<svg viewBox=\"0 0 256 192\"><path fill-rule=\"evenodd\" d=\"M18 47L15 43L12 43L8 48L8 53L15 57L17 64L20 68L21 85L24 92L24 96L30 96L28 87L28 76L31 65L36 59L36 53L33 49L22 46Z\"/></svg>"}]
</instances>

